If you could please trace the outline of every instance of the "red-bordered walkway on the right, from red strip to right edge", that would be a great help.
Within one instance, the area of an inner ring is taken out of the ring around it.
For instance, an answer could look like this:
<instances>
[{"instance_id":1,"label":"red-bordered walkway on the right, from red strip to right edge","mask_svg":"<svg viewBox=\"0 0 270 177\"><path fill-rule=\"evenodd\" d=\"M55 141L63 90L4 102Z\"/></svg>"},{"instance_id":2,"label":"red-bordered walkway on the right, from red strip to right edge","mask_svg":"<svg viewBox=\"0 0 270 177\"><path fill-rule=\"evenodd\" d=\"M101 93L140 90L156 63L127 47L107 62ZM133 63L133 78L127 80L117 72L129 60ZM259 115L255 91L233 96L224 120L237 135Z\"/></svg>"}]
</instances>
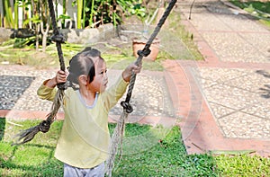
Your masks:
<instances>
[{"instance_id":1,"label":"red-bordered walkway on the right, from red strip to right edge","mask_svg":"<svg viewBox=\"0 0 270 177\"><path fill-rule=\"evenodd\" d=\"M270 155L270 31L227 2L196 0L191 19L190 5L179 1L178 11L205 61L167 62L187 151Z\"/></svg>"}]
</instances>

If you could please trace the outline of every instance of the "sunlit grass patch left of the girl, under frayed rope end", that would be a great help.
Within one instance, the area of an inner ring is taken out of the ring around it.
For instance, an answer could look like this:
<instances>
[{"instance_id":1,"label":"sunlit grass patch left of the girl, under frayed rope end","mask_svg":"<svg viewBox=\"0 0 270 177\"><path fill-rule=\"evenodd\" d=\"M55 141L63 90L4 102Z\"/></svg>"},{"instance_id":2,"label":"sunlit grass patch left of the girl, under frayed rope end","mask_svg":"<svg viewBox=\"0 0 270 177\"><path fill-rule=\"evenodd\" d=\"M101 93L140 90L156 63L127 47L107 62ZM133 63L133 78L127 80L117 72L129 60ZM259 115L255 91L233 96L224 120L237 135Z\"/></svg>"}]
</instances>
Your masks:
<instances>
[{"instance_id":1,"label":"sunlit grass patch left of the girl, under frayed rope end","mask_svg":"<svg viewBox=\"0 0 270 177\"><path fill-rule=\"evenodd\" d=\"M39 123L37 120L1 120L0 138L0 176L60 176L62 163L53 157L55 145L62 123L57 121L48 134L38 134L31 143L11 146L11 141L19 130L30 128ZM21 126L18 126L21 125Z\"/></svg>"}]
</instances>

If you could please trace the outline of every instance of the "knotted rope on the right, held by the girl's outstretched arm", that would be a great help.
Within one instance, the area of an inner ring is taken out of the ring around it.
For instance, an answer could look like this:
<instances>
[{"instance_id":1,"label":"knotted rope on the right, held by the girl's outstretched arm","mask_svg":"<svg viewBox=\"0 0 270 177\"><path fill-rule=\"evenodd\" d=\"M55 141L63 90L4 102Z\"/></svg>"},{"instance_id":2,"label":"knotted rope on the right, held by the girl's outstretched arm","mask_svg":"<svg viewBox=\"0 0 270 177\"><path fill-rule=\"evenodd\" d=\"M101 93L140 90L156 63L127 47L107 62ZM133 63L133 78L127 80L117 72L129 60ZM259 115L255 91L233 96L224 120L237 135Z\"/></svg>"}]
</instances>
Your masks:
<instances>
[{"instance_id":1,"label":"knotted rope on the right, held by the girl's outstretched arm","mask_svg":"<svg viewBox=\"0 0 270 177\"><path fill-rule=\"evenodd\" d=\"M135 64L139 66L141 64L141 60L143 57L147 57L151 50L149 49L153 40L156 39L158 32L160 31L162 25L166 21L167 16L175 6L176 0L172 0L168 6L166 7L166 11L160 18L159 22L157 23L157 26L153 33L151 34L150 38L148 39L148 42L146 43L144 49L139 50L137 53L139 57L137 58ZM121 155L121 145L122 145L122 137L123 137L123 132L125 128L125 120L127 119L129 113L133 111L132 106L130 105L130 98L132 95L132 91L135 85L135 80L136 80L136 74L132 73L130 77L130 85L129 85L129 90L126 95L126 99L124 102L121 102L121 106L123 107L123 111L121 113L121 117L119 121L117 122L116 128L114 128L113 134L112 134L112 142L111 142L111 147L110 147L110 156L107 160L106 164L106 173L108 174L109 177L112 176L112 168L113 168L113 162L115 159L115 155L117 154L117 150L119 149L120 146L120 155Z\"/></svg>"}]
</instances>

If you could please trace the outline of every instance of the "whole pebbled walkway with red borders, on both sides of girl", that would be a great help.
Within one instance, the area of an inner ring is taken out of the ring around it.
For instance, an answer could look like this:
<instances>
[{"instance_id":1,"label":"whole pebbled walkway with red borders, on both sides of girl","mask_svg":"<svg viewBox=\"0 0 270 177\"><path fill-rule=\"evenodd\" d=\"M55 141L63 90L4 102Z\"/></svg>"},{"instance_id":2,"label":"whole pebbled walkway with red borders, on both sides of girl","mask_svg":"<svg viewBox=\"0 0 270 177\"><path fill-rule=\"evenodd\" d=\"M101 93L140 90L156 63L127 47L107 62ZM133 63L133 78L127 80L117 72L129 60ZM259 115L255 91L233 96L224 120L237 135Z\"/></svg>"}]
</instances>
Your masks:
<instances>
[{"instance_id":1,"label":"whole pebbled walkway with red borders, on both sides of girl","mask_svg":"<svg viewBox=\"0 0 270 177\"><path fill-rule=\"evenodd\" d=\"M205 61L166 60L164 72L143 71L131 99L130 121L179 125L189 154L251 150L269 156L270 31L220 1L196 0L189 20L190 5L178 1L175 11ZM0 66L0 116L45 118L51 103L33 93L54 74ZM112 70L110 83L118 74ZM120 113L116 106L110 119Z\"/></svg>"}]
</instances>

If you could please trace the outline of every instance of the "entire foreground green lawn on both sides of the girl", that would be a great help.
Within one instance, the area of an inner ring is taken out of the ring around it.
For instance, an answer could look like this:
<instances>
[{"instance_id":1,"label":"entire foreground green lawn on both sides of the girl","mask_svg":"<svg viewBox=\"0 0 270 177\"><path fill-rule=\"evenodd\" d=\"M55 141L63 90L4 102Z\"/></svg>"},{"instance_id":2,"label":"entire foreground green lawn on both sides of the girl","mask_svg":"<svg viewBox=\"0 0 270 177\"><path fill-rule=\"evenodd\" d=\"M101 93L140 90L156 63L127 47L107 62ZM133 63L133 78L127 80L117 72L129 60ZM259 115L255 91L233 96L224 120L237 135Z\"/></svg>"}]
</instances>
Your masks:
<instances>
[{"instance_id":1,"label":"entire foreground green lawn on both sides of the girl","mask_svg":"<svg viewBox=\"0 0 270 177\"><path fill-rule=\"evenodd\" d=\"M40 120L0 119L0 176L62 176L63 164L54 158L62 121L30 143L11 146L19 130ZM115 127L110 124L109 128ZM178 127L153 128L127 124L121 160L115 160L112 176L269 176L270 160L257 155L187 155ZM133 146L138 146L133 151ZM132 148L131 148L132 147Z\"/></svg>"}]
</instances>

